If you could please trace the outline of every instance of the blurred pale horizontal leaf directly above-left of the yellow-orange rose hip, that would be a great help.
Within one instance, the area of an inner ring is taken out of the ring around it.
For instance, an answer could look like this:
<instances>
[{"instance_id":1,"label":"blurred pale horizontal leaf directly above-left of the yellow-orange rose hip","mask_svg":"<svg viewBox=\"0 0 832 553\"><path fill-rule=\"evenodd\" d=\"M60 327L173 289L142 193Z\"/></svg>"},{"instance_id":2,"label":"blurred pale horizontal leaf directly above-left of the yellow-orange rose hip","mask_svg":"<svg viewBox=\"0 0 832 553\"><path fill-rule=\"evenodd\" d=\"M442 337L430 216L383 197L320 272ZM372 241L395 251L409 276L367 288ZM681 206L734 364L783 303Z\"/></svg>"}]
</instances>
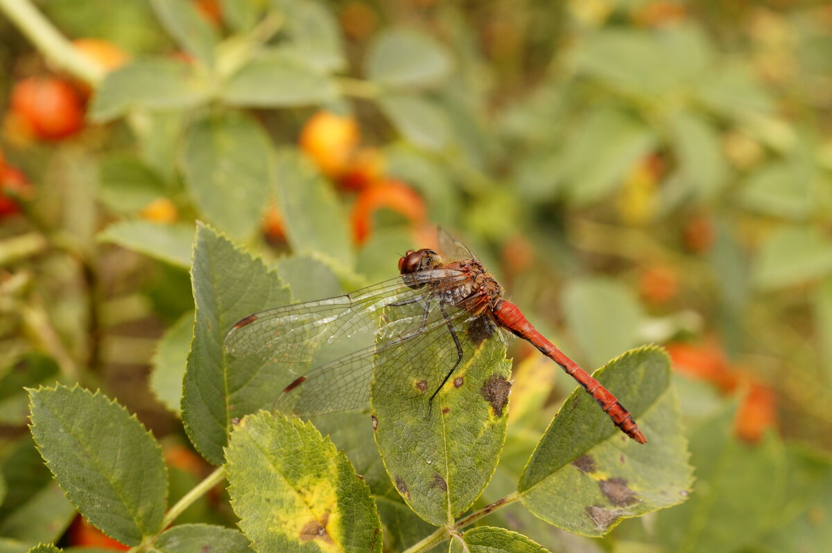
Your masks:
<instances>
[{"instance_id":1,"label":"blurred pale horizontal leaf directly above-left of the yellow-orange rose hip","mask_svg":"<svg viewBox=\"0 0 832 553\"><path fill-rule=\"evenodd\" d=\"M231 106L314 106L338 97L329 77L285 51L255 57L229 77L220 95Z\"/></svg>"}]
</instances>

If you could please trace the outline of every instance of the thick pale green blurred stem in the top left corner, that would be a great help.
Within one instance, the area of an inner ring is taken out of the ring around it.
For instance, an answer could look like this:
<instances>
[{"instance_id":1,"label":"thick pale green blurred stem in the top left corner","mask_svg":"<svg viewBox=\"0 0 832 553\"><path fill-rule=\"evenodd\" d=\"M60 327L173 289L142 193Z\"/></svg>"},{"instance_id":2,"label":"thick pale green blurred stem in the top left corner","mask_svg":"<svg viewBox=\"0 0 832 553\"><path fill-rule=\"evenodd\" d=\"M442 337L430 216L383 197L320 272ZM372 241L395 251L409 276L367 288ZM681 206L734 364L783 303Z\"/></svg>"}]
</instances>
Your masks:
<instances>
[{"instance_id":1,"label":"thick pale green blurred stem in the top left corner","mask_svg":"<svg viewBox=\"0 0 832 553\"><path fill-rule=\"evenodd\" d=\"M43 56L57 67L91 85L104 77L104 68L78 52L30 0L0 0L0 12L4 12Z\"/></svg>"}]
</instances>

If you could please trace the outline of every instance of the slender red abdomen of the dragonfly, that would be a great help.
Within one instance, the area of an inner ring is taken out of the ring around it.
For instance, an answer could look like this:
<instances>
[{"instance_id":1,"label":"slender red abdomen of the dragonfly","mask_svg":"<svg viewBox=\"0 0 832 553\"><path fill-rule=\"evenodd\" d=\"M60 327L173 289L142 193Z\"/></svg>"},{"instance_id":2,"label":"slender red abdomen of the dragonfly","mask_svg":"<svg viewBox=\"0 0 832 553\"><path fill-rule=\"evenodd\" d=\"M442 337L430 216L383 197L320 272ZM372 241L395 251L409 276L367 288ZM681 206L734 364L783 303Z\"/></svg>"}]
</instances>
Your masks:
<instances>
[{"instance_id":1,"label":"slender red abdomen of the dragonfly","mask_svg":"<svg viewBox=\"0 0 832 553\"><path fill-rule=\"evenodd\" d=\"M575 378L583 389L595 398L598 405L612 418L612 422L621 428L622 432L636 440L636 442L647 442L644 434L638 429L636 422L632 420L630 412L626 410L621 402L595 378L592 378L589 373L580 368L577 363L568 358L555 344L549 342L541 333L537 332L537 329L532 326L532 323L528 322L528 319L518 309L517 305L502 300L493 310L493 316L500 326L506 328L514 335L527 340L535 348L539 349L543 355L546 355L560 365L572 378Z\"/></svg>"}]
</instances>

